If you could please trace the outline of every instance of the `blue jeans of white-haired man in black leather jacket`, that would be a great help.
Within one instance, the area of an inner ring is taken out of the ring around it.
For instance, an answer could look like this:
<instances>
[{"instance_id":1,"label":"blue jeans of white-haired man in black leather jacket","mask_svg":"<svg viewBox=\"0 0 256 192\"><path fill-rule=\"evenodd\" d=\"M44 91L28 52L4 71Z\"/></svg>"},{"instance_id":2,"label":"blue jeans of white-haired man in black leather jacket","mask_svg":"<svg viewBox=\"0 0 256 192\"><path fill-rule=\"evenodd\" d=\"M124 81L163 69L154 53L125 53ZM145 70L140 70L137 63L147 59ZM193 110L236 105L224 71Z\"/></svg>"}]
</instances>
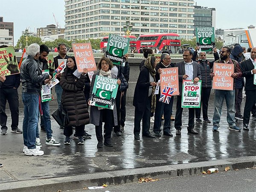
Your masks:
<instances>
[{"instance_id":1,"label":"blue jeans of white-haired man in black leather jacket","mask_svg":"<svg viewBox=\"0 0 256 192\"><path fill-rule=\"evenodd\" d=\"M23 141L29 149L35 148L35 135L38 125L39 95L22 93L24 103Z\"/></svg>"}]
</instances>

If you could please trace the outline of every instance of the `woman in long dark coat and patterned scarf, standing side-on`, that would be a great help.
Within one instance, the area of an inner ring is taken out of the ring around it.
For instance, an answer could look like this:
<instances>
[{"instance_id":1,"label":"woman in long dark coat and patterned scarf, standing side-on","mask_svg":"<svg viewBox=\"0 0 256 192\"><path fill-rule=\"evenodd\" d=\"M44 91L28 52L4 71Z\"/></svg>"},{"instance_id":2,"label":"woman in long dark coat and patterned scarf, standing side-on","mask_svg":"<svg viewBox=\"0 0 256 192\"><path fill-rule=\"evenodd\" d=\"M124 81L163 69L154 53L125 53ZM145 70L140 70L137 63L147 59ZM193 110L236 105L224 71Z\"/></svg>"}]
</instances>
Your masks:
<instances>
[{"instance_id":1,"label":"woman in long dark coat and patterned scarf, standing side-on","mask_svg":"<svg viewBox=\"0 0 256 192\"><path fill-rule=\"evenodd\" d=\"M150 116L154 113L156 96L154 95L157 61L155 57L148 57L144 67L140 71L137 84L134 90L133 105L134 112L134 139L140 140L140 122L142 120L142 136L155 138L150 134Z\"/></svg>"}]
</instances>

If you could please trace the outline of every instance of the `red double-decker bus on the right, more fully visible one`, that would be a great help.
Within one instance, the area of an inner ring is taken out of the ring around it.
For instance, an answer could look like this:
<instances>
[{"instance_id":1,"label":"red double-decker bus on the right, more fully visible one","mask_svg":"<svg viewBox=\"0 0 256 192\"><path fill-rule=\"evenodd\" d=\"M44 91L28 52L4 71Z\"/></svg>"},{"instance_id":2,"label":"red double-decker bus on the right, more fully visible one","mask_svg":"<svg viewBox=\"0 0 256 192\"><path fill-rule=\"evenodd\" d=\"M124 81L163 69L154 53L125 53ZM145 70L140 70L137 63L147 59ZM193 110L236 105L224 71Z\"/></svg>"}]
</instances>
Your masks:
<instances>
[{"instance_id":1,"label":"red double-decker bus on the right, more fully visible one","mask_svg":"<svg viewBox=\"0 0 256 192\"><path fill-rule=\"evenodd\" d=\"M137 39L137 49L140 47L150 47L154 49L172 50L172 53L176 53L180 47L180 35L177 33L160 33L160 34L148 34L140 35Z\"/></svg>"}]
</instances>

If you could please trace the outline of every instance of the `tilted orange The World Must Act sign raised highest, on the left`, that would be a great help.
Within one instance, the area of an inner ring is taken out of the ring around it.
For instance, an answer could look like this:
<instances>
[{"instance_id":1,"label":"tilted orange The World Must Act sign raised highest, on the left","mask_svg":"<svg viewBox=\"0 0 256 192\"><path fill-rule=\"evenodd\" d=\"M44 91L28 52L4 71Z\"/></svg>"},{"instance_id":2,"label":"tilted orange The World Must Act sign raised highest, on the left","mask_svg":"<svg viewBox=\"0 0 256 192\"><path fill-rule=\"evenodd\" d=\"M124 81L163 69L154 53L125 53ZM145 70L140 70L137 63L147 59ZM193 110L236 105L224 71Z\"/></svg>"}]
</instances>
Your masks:
<instances>
[{"instance_id":1,"label":"tilted orange The World Must Act sign raised highest, on the left","mask_svg":"<svg viewBox=\"0 0 256 192\"><path fill-rule=\"evenodd\" d=\"M90 43L72 44L76 66L79 73L83 73L86 68L88 71L96 71L96 63Z\"/></svg>"}]
</instances>

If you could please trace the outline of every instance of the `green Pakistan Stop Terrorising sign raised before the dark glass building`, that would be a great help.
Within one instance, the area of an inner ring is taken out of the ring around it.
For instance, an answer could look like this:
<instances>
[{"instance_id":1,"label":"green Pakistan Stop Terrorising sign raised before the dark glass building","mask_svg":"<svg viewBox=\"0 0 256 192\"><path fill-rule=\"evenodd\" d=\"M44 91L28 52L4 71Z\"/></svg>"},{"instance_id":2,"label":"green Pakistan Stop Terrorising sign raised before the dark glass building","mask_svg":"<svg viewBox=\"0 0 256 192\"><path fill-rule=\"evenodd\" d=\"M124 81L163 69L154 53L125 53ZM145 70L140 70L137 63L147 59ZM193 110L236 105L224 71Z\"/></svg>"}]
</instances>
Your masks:
<instances>
[{"instance_id":1,"label":"green Pakistan Stop Terrorising sign raised before the dark glass building","mask_svg":"<svg viewBox=\"0 0 256 192\"><path fill-rule=\"evenodd\" d=\"M214 27L196 27L196 44L201 51L212 51L215 47Z\"/></svg>"}]
</instances>

